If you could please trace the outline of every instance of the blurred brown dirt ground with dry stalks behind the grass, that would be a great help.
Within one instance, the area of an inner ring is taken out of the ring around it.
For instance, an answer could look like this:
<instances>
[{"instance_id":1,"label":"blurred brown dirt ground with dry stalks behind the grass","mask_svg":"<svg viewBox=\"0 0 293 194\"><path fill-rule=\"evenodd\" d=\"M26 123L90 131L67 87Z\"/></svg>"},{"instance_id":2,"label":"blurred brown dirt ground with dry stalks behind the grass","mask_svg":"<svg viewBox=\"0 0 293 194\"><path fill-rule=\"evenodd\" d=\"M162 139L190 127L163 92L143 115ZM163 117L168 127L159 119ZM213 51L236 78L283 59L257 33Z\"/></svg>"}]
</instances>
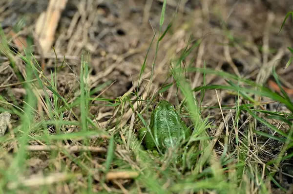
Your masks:
<instances>
[{"instance_id":1,"label":"blurred brown dirt ground with dry stalks behind the grass","mask_svg":"<svg viewBox=\"0 0 293 194\"><path fill-rule=\"evenodd\" d=\"M11 26L25 17L18 35L22 38L29 36L38 39L34 33L35 24L39 15L46 11L47 4L48 1L45 0L28 0L21 3L16 0L2 1L0 21L4 32L8 34L12 29ZM177 2L170 0L167 4L163 30L167 28L174 15ZM279 67L278 73L282 75L282 81L288 88L292 88L290 76L292 68L283 71L290 57L286 47L291 46L293 40L291 18L279 33L285 15L292 10L292 7L293 3L289 0L278 2L188 0L184 14L179 12L171 33L167 34L167 38L163 39L160 45L157 63L164 70L164 66L168 63L167 58L182 50L190 35L195 38L204 37L203 46L193 53L198 58L196 67L203 67L199 61L205 60L207 67L222 69L255 80L263 60L269 62L277 59L276 66ZM60 60L57 65L61 65L64 55L67 59L67 67L58 71L61 93L68 93L71 81L79 75L80 59L84 53L89 57L91 87L94 88L109 80L115 81L111 89L104 93L105 97L116 98L125 94L131 88L132 80L137 80L152 36L159 30L161 8L161 0L69 0L62 12L53 42ZM227 38L228 32L233 40ZM229 41L230 43L235 41L237 47L224 47L223 43ZM36 58L44 61L44 72L50 73L54 70L53 50L42 53L38 43L34 42L34 44ZM14 41L11 42L11 46L18 50L18 45ZM268 47L272 52L263 54L261 47ZM146 72L150 71L154 48L155 45L148 56ZM15 83L17 78L9 70L5 57L1 58L1 62L3 65L0 82L2 85ZM167 72L159 73L161 75ZM192 76L194 75L190 75ZM164 81L162 77L157 77L154 84L162 84ZM196 77L193 86L200 84L201 78ZM16 96L21 97L21 90L15 89L15 92ZM207 102L209 100L207 99Z\"/></svg>"}]
</instances>

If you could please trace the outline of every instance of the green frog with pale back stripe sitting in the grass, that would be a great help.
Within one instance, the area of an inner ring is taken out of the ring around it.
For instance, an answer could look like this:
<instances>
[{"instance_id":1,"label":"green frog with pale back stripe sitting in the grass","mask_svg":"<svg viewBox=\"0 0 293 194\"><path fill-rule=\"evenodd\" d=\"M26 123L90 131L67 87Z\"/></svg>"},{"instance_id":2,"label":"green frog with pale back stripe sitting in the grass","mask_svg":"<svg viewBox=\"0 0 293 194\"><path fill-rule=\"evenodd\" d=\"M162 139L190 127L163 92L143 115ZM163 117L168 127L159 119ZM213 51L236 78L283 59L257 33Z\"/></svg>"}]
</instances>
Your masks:
<instances>
[{"instance_id":1,"label":"green frog with pale back stripe sitting in the grass","mask_svg":"<svg viewBox=\"0 0 293 194\"><path fill-rule=\"evenodd\" d=\"M162 152L165 152L166 148L174 147L180 140L186 140L192 133L181 120L174 106L165 100L159 102L151 113L149 128ZM138 131L138 137L143 141L147 150L157 150L156 144L146 128Z\"/></svg>"}]
</instances>

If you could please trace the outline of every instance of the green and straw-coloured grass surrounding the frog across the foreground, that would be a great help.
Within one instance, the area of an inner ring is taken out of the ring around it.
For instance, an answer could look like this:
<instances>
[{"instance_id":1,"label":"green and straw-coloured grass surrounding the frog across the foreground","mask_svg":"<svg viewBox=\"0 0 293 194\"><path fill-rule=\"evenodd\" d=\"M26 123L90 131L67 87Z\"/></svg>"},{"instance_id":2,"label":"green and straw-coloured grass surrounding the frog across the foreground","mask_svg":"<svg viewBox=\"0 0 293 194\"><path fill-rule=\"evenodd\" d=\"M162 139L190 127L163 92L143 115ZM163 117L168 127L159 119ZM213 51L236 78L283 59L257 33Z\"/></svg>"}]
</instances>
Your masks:
<instances>
[{"instance_id":1,"label":"green and straw-coloured grass surrounding the frog across the foreground","mask_svg":"<svg viewBox=\"0 0 293 194\"><path fill-rule=\"evenodd\" d=\"M1 112L9 111L20 118L9 133L0 137L1 193L69 190L73 193L263 194L271 193L273 187L287 190L276 175L282 163L292 157L293 103L281 87L275 69L272 75L280 93L235 74L207 68L205 63L204 68L194 68L190 55L202 40L190 38L183 51L170 60L170 76L166 82L152 88L160 42L172 27L170 23L162 32L166 2L159 35L154 35L151 41L157 38L149 80L143 76L151 46L137 87L133 87L136 89L115 99L94 96L110 82L90 88L89 64L84 56L79 69L79 88L72 92L73 96L65 98L58 91L56 64L47 78L31 46L25 48L24 54L13 53L7 41L2 41L0 52L9 56L11 64L15 64L12 56L16 56L25 66L26 73L17 66L13 70L22 73L20 81L26 95L16 104L0 95ZM199 73L202 85L193 88L188 73ZM225 84L207 84L208 75L224 79ZM172 96L176 108L193 132L182 146L153 156L141 149L137 129L147 127L153 109L150 105L165 98L172 88L176 90ZM235 103L223 104L221 91L229 92ZM211 94L217 105L204 106L205 97ZM255 96L267 97L289 111L269 110L266 106L271 102L255 100ZM113 107L111 118L104 123L95 121L95 115L90 114L94 102ZM218 118L213 119L209 110L217 110ZM35 175L35 171L39 174Z\"/></svg>"}]
</instances>

